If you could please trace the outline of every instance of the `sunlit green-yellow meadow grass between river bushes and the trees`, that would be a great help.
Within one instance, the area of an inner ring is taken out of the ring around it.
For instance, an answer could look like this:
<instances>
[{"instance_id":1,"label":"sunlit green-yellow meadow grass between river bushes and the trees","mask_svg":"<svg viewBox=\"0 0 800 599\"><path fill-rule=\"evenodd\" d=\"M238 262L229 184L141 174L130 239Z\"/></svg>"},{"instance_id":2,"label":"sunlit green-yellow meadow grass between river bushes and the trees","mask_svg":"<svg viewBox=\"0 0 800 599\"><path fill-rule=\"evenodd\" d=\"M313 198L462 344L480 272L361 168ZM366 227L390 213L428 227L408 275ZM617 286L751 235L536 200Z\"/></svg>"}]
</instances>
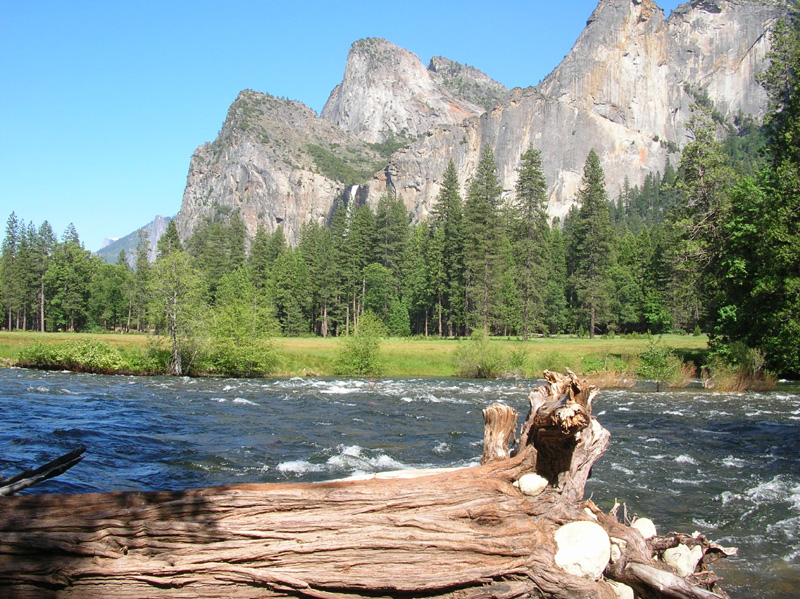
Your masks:
<instances>
[{"instance_id":1,"label":"sunlit green-yellow meadow grass between river bushes and the trees","mask_svg":"<svg viewBox=\"0 0 800 599\"><path fill-rule=\"evenodd\" d=\"M123 360L141 355L153 336L119 333L33 333L0 331L0 361L12 366L23 348L37 344L64 344L79 340L108 344L119 350ZM702 362L707 351L705 336L663 335L661 343L675 350L684 360ZM513 376L539 378L544 370L562 371L565 367L580 374L634 371L638 356L650 345L647 336L613 338L546 337L530 341L494 337L489 342L514 357ZM458 376L454 352L463 339L389 338L381 342L382 376L385 378ZM336 358L343 340L336 338L277 338L274 347L278 362L271 376L335 376ZM124 369L123 369L124 370ZM125 370L130 372L130 370ZM147 373L142 373L147 374Z\"/></svg>"}]
</instances>

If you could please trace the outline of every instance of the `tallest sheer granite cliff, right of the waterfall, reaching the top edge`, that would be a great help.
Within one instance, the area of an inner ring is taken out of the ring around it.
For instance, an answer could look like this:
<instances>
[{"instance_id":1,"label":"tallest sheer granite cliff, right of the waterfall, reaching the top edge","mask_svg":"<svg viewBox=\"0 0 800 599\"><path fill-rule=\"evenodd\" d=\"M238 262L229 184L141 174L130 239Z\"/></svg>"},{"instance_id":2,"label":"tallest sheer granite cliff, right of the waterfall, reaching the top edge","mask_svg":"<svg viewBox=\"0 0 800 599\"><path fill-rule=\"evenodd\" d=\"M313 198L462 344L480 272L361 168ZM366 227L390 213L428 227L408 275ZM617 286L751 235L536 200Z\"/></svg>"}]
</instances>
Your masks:
<instances>
[{"instance_id":1,"label":"tallest sheer granite cliff, right of the waterfall, reaching the top edge","mask_svg":"<svg viewBox=\"0 0 800 599\"><path fill-rule=\"evenodd\" d=\"M370 201L391 181L423 218L449 159L466 183L484 144L509 195L519 156L529 144L542 151L551 215L564 215L574 201L591 148L614 198L626 177L638 185L667 158L678 160L698 95L729 117L763 112L755 74L766 65L767 31L782 11L764 2L696 0L665 19L652 0L602 0L539 86L514 90L480 118L427 132L376 177Z\"/></svg>"}]
</instances>

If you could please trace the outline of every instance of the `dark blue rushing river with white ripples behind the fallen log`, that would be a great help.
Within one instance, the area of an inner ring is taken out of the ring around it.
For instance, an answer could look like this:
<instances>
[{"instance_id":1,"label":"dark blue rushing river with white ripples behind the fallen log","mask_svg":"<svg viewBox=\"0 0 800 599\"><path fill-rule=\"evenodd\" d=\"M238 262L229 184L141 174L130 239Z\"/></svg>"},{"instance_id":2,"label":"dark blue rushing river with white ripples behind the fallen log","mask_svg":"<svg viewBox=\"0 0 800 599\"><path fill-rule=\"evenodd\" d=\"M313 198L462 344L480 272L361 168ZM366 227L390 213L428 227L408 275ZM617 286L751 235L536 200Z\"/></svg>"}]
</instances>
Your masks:
<instances>
[{"instance_id":1,"label":"dark blue rushing river with white ripples behind the fallen log","mask_svg":"<svg viewBox=\"0 0 800 599\"><path fill-rule=\"evenodd\" d=\"M524 418L537 381L180 379L0 369L0 473L78 445L87 457L32 493L319 481L468 466L481 409ZM718 562L734 598L800 596L800 389L603 391L611 431L587 495L660 532L739 547Z\"/></svg>"}]
</instances>

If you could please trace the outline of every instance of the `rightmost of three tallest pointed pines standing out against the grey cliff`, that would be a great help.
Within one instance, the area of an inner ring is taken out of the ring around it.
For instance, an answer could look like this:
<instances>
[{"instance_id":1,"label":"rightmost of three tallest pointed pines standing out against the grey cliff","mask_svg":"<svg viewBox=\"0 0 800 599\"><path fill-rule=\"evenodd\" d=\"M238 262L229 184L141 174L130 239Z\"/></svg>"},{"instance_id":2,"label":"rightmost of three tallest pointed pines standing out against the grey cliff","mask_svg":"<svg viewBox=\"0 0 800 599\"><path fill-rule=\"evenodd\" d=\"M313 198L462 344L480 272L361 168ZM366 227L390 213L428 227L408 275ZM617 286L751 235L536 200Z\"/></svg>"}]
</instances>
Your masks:
<instances>
[{"instance_id":1,"label":"rightmost of three tallest pointed pines standing out against the grey cliff","mask_svg":"<svg viewBox=\"0 0 800 599\"><path fill-rule=\"evenodd\" d=\"M605 174L594 150L586 157L578 203L571 239L571 278L578 307L588 316L589 337L593 338L598 321L605 320L610 299L607 269L612 260Z\"/></svg>"}]
</instances>

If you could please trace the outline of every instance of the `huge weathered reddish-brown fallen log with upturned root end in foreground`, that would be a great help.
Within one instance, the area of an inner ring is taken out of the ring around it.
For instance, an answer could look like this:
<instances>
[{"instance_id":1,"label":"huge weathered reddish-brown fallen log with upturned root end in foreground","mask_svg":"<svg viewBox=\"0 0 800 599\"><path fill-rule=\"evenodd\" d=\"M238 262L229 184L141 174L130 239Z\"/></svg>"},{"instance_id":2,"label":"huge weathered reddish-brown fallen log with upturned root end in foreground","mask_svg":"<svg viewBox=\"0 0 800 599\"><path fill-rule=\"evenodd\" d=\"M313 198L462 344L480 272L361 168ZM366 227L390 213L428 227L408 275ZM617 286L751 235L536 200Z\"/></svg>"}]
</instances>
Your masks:
<instances>
[{"instance_id":1,"label":"huge weathered reddish-brown fallen log with upturned root end in foreground","mask_svg":"<svg viewBox=\"0 0 800 599\"><path fill-rule=\"evenodd\" d=\"M724 597L715 577L658 559L674 539L645 539L582 501L610 435L591 416L594 389L545 374L515 448L516 412L484 411L473 468L3 498L0 596ZM676 538L704 551L703 539Z\"/></svg>"}]
</instances>

